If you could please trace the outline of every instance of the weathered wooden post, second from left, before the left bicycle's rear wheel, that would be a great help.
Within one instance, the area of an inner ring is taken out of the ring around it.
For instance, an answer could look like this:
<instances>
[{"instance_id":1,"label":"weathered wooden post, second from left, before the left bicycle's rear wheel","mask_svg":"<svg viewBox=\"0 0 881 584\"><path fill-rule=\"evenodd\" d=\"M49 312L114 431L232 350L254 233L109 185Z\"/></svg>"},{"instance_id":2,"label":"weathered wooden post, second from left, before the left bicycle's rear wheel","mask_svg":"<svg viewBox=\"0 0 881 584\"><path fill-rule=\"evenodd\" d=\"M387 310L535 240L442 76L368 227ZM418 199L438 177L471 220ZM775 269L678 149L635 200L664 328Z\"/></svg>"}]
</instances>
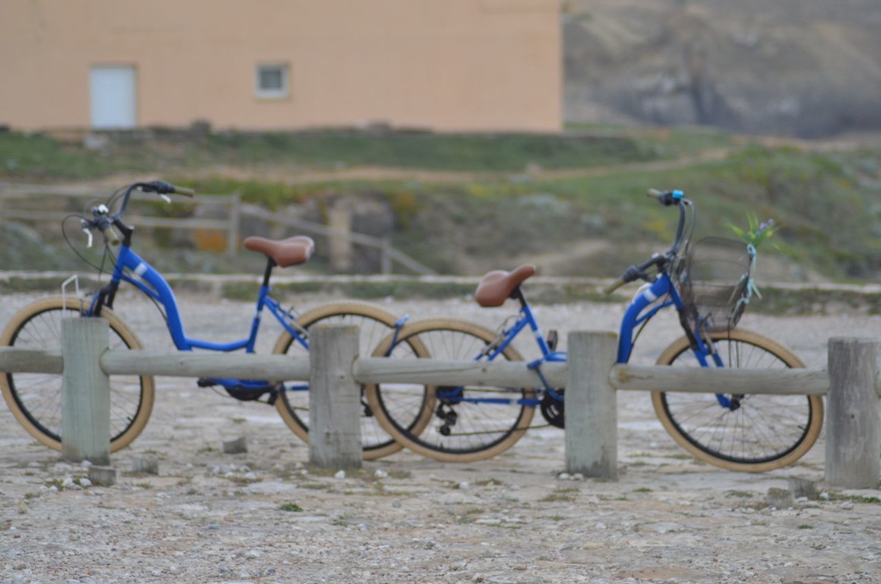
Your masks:
<instances>
[{"instance_id":1,"label":"weathered wooden post, second from left, before the left bicycle's rear wheel","mask_svg":"<svg viewBox=\"0 0 881 584\"><path fill-rule=\"evenodd\" d=\"M361 388L352 378L357 326L309 329L309 462L320 468L361 467Z\"/></svg>"}]
</instances>

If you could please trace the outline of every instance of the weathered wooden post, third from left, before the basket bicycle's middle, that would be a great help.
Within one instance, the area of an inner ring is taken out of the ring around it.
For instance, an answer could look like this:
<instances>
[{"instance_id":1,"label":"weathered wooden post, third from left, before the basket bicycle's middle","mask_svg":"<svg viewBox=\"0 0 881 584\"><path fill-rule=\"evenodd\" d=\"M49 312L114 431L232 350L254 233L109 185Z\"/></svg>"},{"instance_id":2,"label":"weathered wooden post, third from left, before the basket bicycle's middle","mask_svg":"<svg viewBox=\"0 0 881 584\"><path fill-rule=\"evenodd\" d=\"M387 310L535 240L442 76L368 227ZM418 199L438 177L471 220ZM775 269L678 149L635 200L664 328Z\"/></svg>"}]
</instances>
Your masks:
<instances>
[{"instance_id":1,"label":"weathered wooden post, third from left, before the basket bicycle's middle","mask_svg":"<svg viewBox=\"0 0 881 584\"><path fill-rule=\"evenodd\" d=\"M566 471L594 478L618 478L618 396L609 371L618 354L618 335L569 333L566 364Z\"/></svg>"}]
</instances>

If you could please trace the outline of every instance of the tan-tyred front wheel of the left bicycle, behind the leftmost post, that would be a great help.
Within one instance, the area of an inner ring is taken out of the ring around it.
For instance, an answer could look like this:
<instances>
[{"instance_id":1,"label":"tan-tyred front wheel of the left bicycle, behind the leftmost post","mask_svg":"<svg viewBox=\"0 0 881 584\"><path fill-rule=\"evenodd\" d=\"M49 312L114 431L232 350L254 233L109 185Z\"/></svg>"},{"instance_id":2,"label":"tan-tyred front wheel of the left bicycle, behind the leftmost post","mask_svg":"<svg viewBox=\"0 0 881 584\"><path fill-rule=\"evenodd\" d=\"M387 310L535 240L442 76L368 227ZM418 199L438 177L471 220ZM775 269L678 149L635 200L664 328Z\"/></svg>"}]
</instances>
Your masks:
<instances>
[{"instance_id":1,"label":"tan-tyred front wheel of the left bicycle, behind the leftmost post","mask_svg":"<svg viewBox=\"0 0 881 584\"><path fill-rule=\"evenodd\" d=\"M61 350L61 296L28 304L12 317L0 336L0 346ZM67 299L70 317L80 313L77 298ZM101 317L110 326L110 350L143 348L135 333L107 308ZM61 450L62 378L45 373L0 375L6 405L15 419L43 445ZM153 409L152 376L115 375L110 378L110 451L131 443L144 430Z\"/></svg>"}]
</instances>

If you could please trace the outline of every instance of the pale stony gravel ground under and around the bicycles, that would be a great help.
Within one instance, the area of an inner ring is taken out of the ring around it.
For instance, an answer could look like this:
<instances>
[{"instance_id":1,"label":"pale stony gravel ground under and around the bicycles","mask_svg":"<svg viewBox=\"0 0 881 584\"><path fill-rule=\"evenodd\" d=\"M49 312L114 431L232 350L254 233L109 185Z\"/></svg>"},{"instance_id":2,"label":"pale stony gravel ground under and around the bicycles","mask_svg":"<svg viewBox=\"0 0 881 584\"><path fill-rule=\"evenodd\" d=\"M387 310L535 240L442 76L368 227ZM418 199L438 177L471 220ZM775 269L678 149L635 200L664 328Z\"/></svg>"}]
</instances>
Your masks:
<instances>
[{"instance_id":1,"label":"pale stony gravel ground under and around the bicycles","mask_svg":"<svg viewBox=\"0 0 881 584\"><path fill-rule=\"evenodd\" d=\"M4 297L0 318L31 300ZM181 304L189 333L214 340L245 330L253 311L195 296ZM118 305L148 347L170 347L149 304ZM383 305L492 327L514 311L466 299ZM622 313L537 307L564 342L572 329L615 330ZM877 334L881 318L747 315L742 326L822 366L827 337ZM659 316L634 361L651 363L677 330L674 314ZM277 333L264 334L264 350ZM863 502L877 490L766 505L789 476L822 480L822 438L794 467L747 475L683 453L645 394L621 393L618 416L617 482L561 479L563 433L552 429L480 463L397 453L342 476L304 467L307 446L274 408L159 378L151 422L113 457L119 482L82 488L72 481L87 469L38 445L2 408L0 582L881 581L881 505ZM248 453L220 453L230 436L246 436ZM128 472L143 456L159 460L159 475Z\"/></svg>"}]
</instances>

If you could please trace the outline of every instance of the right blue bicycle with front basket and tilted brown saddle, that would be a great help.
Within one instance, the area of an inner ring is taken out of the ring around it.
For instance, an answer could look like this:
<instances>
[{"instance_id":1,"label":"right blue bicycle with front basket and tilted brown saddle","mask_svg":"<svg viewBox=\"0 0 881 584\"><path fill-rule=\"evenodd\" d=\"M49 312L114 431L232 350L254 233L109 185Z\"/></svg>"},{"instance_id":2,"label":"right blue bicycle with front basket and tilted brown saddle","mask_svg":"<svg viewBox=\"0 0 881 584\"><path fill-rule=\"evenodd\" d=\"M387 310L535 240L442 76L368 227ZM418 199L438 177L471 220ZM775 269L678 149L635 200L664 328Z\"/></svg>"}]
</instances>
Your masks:
<instances>
[{"instance_id":1,"label":"right blue bicycle with front basket and tilted brown saddle","mask_svg":"<svg viewBox=\"0 0 881 584\"><path fill-rule=\"evenodd\" d=\"M755 250L744 243L701 240L691 243L693 205L681 191L650 191L664 206L677 206L679 221L669 251L631 266L610 293L627 282L646 283L634 296L619 333L618 363L627 363L633 343L649 320L674 307L685 336L673 342L657 363L674 366L785 368L803 367L787 348L757 333L737 328L749 302ZM473 323L451 319L415 321L389 335L377 355L418 358L410 346L422 343L434 358L519 360L512 341L529 328L540 356L529 363L541 386L530 388L367 386L367 401L382 427L411 450L437 460L482 460L504 452L529 429L539 408L547 423L563 427L565 389L549 386L543 363L565 361L555 351L556 334L541 333L521 285L533 266L511 273L487 273L475 299L481 306L500 306L507 298L520 303L513 323L495 333ZM407 399L409 398L409 403ZM655 413L679 445L700 460L735 470L758 472L798 460L817 440L823 402L817 396L731 395L722 393L652 394ZM406 409L396 409L401 404ZM418 432L408 429L415 404L423 404ZM424 427L423 427L424 426Z\"/></svg>"}]
</instances>

